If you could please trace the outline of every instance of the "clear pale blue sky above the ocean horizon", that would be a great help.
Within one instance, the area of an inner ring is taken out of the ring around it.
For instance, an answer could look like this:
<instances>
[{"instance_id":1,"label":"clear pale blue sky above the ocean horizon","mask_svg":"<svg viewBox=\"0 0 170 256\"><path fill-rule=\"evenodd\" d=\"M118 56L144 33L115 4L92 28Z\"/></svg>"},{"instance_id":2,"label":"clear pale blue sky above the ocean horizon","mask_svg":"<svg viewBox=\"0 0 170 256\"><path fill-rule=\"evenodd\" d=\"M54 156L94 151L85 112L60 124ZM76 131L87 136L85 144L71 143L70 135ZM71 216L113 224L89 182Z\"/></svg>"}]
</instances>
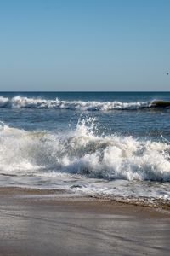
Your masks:
<instances>
[{"instance_id":1,"label":"clear pale blue sky above the ocean horizon","mask_svg":"<svg viewBox=\"0 0 170 256\"><path fill-rule=\"evenodd\" d=\"M0 90L170 90L169 0L0 0Z\"/></svg>"}]
</instances>

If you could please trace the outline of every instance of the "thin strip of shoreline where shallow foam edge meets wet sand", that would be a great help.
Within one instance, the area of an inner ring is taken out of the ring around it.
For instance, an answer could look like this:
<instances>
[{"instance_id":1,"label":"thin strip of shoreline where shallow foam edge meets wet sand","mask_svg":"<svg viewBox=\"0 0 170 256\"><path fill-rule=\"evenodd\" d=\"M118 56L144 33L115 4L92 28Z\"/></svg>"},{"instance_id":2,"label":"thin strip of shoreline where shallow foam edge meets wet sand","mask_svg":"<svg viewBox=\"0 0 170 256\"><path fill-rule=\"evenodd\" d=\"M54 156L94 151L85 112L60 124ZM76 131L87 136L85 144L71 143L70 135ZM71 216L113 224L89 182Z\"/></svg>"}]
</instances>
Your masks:
<instances>
[{"instance_id":1,"label":"thin strip of shoreline where shallow foam edge meets wet sand","mask_svg":"<svg viewBox=\"0 0 170 256\"><path fill-rule=\"evenodd\" d=\"M159 211L166 211L170 214L170 201L166 199L156 199L153 197L146 196L122 196L122 195L89 195L86 193L77 193L66 189L40 189L40 188L29 188L22 186L0 186L0 195L2 194L13 194L13 195L27 195L27 196L47 196L48 198L54 196L61 196L63 198L70 197L72 200L79 197L82 201L86 199L94 199L96 201L108 201L114 203L122 203L131 206L138 207L149 207Z\"/></svg>"}]
</instances>

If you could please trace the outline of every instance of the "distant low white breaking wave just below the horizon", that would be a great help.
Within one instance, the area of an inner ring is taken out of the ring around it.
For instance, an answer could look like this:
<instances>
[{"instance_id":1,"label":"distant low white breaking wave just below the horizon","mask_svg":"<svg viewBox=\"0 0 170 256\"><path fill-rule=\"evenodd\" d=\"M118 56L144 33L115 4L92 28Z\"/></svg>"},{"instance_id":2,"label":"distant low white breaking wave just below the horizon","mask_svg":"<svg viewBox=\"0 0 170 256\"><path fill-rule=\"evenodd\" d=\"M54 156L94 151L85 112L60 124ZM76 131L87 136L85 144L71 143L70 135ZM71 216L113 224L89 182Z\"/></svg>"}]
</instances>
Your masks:
<instances>
[{"instance_id":1,"label":"distant low white breaking wave just below the horizon","mask_svg":"<svg viewBox=\"0 0 170 256\"><path fill-rule=\"evenodd\" d=\"M88 111L108 111L108 110L135 110L141 108L168 108L170 102L96 102L96 101L62 101L56 98L48 100L42 98L29 98L24 96L14 96L12 98L0 96L0 108L56 108Z\"/></svg>"}]
</instances>

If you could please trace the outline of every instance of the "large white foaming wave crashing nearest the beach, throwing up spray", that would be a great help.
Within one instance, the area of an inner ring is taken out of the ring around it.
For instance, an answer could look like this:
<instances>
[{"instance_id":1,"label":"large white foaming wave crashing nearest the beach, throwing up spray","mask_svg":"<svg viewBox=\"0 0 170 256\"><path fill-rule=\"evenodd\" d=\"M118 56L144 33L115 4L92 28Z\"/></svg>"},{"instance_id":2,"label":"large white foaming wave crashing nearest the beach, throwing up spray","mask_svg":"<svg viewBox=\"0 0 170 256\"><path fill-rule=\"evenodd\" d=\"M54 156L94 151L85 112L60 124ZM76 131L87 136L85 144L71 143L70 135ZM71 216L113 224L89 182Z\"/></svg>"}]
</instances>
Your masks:
<instances>
[{"instance_id":1,"label":"large white foaming wave crashing nearest the beach, throwing up spray","mask_svg":"<svg viewBox=\"0 0 170 256\"><path fill-rule=\"evenodd\" d=\"M92 121L93 123L93 121ZM0 173L68 174L105 180L170 182L170 144L133 137L96 136L94 123L75 131L25 131L0 124Z\"/></svg>"}]
</instances>

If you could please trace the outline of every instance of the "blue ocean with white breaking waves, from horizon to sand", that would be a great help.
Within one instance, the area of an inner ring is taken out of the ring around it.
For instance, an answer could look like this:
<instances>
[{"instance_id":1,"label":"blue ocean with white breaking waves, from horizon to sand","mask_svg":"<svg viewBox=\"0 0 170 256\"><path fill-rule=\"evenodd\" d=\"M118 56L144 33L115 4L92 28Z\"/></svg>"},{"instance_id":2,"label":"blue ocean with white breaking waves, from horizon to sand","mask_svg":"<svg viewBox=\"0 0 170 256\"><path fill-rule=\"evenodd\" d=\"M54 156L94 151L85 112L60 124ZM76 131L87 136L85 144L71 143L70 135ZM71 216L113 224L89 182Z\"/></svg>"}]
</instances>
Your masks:
<instances>
[{"instance_id":1,"label":"blue ocean with white breaking waves, from horizon to sand","mask_svg":"<svg viewBox=\"0 0 170 256\"><path fill-rule=\"evenodd\" d=\"M1 92L0 186L170 202L170 92Z\"/></svg>"}]
</instances>

